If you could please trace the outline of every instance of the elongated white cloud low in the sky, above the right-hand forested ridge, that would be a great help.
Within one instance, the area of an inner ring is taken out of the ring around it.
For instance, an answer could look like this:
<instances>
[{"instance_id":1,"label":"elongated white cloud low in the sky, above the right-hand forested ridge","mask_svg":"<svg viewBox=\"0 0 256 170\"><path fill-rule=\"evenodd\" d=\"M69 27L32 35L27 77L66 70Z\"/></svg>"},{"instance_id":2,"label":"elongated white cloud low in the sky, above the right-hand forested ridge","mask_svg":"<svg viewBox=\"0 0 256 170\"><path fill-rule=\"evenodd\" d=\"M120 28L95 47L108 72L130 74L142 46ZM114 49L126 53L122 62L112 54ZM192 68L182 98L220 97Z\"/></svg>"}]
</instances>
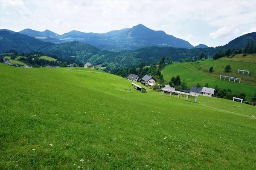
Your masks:
<instances>
[{"instance_id":1,"label":"elongated white cloud low in the sky, above the right-hand forested ridge","mask_svg":"<svg viewBox=\"0 0 256 170\"><path fill-rule=\"evenodd\" d=\"M241 26L224 26L219 28L217 31L209 34L211 39L216 39L219 37L234 37L241 29Z\"/></svg>"}]
</instances>

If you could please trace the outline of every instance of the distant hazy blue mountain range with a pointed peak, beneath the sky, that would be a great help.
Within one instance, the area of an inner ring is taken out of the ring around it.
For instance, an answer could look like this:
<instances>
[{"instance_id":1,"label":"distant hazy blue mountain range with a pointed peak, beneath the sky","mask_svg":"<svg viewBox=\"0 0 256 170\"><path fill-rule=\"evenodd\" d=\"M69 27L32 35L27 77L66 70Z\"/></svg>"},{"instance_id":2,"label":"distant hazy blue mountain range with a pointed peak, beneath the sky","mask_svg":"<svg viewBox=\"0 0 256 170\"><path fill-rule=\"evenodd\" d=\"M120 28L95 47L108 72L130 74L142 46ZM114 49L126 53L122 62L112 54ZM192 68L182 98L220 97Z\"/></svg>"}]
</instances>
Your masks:
<instances>
[{"instance_id":1,"label":"distant hazy blue mountain range with a pointed peak, beneath the sky","mask_svg":"<svg viewBox=\"0 0 256 170\"><path fill-rule=\"evenodd\" d=\"M193 48L185 40L168 35L164 31L154 31L142 24L103 34L84 33L74 30L59 35L49 30L40 32L32 29L24 29L20 33L35 37L44 42L65 43L79 41L86 42L99 49L111 51L136 50L148 46Z\"/></svg>"}]
</instances>

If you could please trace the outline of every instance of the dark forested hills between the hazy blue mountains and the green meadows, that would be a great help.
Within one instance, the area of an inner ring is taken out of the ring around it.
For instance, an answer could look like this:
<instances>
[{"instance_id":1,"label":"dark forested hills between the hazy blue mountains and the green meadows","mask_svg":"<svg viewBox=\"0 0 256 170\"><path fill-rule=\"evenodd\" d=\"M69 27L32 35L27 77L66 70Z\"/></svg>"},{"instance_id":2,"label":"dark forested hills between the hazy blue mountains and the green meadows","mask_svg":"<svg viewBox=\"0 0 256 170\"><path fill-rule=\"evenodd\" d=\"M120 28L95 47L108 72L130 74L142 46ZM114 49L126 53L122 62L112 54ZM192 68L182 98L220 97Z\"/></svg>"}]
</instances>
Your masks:
<instances>
[{"instance_id":1,"label":"dark forested hills between the hazy blue mountains and the green meadows","mask_svg":"<svg viewBox=\"0 0 256 170\"><path fill-rule=\"evenodd\" d=\"M195 57L199 56L199 58L202 56L213 56L220 50L227 51L230 49L232 54L236 50L238 51L239 48L244 48L249 40L255 44L256 32L245 34L230 41L227 45L216 48L188 49L150 46L140 48L136 51L114 52L100 50L93 45L83 42L74 41L65 44L53 44L51 42L42 42L41 40L20 33L13 34L8 31L0 31L0 53L6 52L9 49L15 49L17 52L25 53L41 51L48 56L55 55L65 60L73 58L73 61L77 63L91 62L93 65L106 66L106 70L112 72L116 68L138 67L141 62L145 62L145 65L152 65L153 62L158 62L163 56L182 62L197 59ZM220 56L222 56L222 53Z\"/></svg>"}]
</instances>

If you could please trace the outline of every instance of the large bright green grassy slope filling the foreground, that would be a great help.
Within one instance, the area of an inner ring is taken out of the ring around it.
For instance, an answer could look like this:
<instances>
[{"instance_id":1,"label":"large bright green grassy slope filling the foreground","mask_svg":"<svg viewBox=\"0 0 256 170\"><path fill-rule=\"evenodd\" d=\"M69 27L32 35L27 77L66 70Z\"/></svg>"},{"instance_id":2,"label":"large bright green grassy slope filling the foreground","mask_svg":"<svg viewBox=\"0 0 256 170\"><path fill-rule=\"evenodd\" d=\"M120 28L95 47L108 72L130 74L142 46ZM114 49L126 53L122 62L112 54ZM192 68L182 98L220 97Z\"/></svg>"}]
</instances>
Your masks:
<instances>
[{"instance_id":1,"label":"large bright green grassy slope filling the foreground","mask_svg":"<svg viewBox=\"0 0 256 170\"><path fill-rule=\"evenodd\" d=\"M251 105L129 92L86 68L0 64L0 82L0 169L256 168Z\"/></svg>"}]
</instances>

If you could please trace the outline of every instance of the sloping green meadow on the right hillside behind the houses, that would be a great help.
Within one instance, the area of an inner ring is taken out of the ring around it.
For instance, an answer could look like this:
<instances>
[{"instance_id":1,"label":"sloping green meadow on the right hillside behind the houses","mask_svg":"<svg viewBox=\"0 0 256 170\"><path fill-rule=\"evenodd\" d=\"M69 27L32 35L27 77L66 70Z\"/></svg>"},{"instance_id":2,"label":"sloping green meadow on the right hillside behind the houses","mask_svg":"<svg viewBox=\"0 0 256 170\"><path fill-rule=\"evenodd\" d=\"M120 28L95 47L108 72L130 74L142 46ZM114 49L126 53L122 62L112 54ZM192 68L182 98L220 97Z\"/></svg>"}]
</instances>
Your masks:
<instances>
[{"instance_id":1,"label":"sloping green meadow on the right hillside behind the houses","mask_svg":"<svg viewBox=\"0 0 256 170\"><path fill-rule=\"evenodd\" d=\"M256 60L256 58L255 58ZM210 88L216 85L220 88L230 88L235 93L246 93L246 99L250 100L251 96L256 92L256 64L249 62L239 62L221 58L217 60L205 59L195 62L174 63L167 65L162 74L164 79L170 81L172 76L180 75L181 79L185 79L189 88L197 85L199 82L204 86L207 82ZM225 73L226 65L231 66L231 72ZM213 67L213 72L209 73L209 68ZM237 74L237 69L250 70L250 76L245 74ZM241 83L220 79L220 75L241 78Z\"/></svg>"}]
</instances>

